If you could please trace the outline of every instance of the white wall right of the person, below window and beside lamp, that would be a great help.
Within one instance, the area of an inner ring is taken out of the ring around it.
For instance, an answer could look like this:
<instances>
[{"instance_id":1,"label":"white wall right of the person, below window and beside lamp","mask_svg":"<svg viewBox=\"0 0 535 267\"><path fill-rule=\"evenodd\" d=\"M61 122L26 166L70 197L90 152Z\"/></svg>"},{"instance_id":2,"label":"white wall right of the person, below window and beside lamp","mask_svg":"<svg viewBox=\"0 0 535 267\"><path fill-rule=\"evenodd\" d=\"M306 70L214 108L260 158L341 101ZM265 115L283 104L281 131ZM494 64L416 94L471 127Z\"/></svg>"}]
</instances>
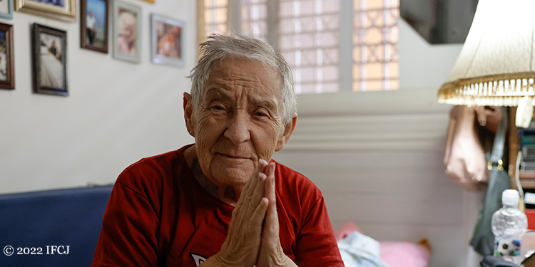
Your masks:
<instances>
[{"instance_id":1,"label":"white wall right of the person, below window and beside lamp","mask_svg":"<svg viewBox=\"0 0 535 267\"><path fill-rule=\"evenodd\" d=\"M437 91L461 45L430 46L399 21L397 91L300 95L299 120L275 159L310 177L335 229L378 240L428 239L429 266L479 266L467 246L481 193L444 175L449 105Z\"/></svg>"}]
</instances>

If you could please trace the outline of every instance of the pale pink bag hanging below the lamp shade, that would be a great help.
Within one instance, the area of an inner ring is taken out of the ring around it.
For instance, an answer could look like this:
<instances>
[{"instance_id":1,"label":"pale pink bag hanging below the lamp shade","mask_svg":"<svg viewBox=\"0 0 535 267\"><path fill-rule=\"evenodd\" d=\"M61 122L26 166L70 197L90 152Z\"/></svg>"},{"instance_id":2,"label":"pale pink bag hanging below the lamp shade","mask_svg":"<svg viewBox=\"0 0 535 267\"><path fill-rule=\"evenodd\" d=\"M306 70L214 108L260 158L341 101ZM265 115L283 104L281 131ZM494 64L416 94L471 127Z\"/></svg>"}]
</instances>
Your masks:
<instances>
[{"instance_id":1,"label":"pale pink bag hanging below the lamp shade","mask_svg":"<svg viewBox=\"0 0 535 267\"><path fill-rule=\"evenodd\" d=\"M481 140L494 138L501 110L457 105L450 110L449 117L444 154L446 177L469 191L485 189L489 170L482 145L486 142Z\"/></svg>"}]
</instances>

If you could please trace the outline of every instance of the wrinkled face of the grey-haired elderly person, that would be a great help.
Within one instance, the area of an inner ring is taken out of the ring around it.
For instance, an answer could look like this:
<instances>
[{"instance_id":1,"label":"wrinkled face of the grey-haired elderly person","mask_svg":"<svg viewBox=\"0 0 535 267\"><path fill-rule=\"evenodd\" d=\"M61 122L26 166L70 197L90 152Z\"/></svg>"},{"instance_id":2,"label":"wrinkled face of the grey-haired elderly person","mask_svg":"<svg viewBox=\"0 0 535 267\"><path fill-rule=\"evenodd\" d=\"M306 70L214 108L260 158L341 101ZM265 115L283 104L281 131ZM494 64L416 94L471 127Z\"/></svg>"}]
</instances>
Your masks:
<instances>
[{"instance_id":1,"label":"wrinkled face of the grey-haired elderly person","mask_svg":"<svg viewBox=\"0 0 535 267\"><path fill-rule=\"evenodd\" d=\"M188 127L208 179L245 184L259 159L282 149L281 86L277 71L256 61L225 58L213 70Z\"/></svg>"}]
</instances>

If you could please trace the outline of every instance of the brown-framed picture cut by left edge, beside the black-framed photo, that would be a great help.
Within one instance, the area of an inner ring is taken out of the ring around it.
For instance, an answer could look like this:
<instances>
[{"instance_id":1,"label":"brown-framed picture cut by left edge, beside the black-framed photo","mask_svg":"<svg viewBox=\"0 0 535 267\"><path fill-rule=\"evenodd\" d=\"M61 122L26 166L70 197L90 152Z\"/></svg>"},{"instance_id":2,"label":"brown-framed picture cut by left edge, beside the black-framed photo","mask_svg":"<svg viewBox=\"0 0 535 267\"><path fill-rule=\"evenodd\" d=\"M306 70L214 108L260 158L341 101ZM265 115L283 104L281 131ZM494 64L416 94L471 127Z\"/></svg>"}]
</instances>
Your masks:
<instances>
[{"instance_id":1,"label":"brown-framed picture cut by left edge, beside the black-framed photo","mask_svg":"<svg viewBox=\"0 0 535 267\"><path fill-rule=\"evenodd\" d=\"M0 23L0 88L15 89L13 26Z\"/></svg>"}]
</instances>

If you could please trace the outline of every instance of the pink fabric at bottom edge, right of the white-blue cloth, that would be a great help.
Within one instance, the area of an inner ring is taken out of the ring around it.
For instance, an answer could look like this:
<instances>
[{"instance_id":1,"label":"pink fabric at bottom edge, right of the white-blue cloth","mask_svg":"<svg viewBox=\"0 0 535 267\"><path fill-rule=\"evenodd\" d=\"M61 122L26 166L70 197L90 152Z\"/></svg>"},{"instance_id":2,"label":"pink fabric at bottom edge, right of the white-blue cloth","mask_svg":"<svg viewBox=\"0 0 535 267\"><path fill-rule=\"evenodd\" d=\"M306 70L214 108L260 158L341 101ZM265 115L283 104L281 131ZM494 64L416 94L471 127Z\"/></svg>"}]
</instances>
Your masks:
<instances>
[{"instance_id":1,"label":"pink fabric at bottom edge, right of the white-blue cloth","mask_svg":"<svg viewBox=\"0 0 535 267\"><path fill-rule=\"evenodd\" d=\"M427 267L429 249L422 244L379 241L381 259L392 267Z\"/></svg>"}]
</instances>

